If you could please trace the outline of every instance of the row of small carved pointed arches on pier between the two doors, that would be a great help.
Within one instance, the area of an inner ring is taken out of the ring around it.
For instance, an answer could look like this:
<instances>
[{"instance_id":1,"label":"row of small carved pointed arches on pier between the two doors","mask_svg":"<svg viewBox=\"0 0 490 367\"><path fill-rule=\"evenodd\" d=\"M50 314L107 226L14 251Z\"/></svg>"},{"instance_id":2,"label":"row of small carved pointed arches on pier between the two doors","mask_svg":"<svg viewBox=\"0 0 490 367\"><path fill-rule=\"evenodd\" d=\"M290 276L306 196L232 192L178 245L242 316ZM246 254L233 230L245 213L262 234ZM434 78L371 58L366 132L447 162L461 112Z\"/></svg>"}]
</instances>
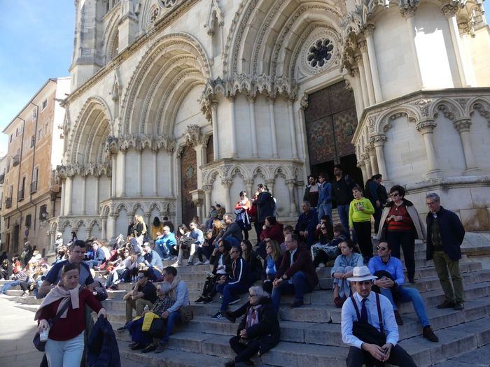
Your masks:
<instances>
[{"instance_id":1,"label":"row of small carved pointed arches on pier between the two doors","mask_svg":"<svg viewBox=\"0 0 490 367\"><path fill-rule=\"evenodd\" d=\"M233 180L239 175L244 181L253 181L257 177L264 178L264 183L281 176L285 180L297 180L300 166L296 164L223 164L218 167L205 169L202 173L202 185L213 185L219 177L221 180Z\"/></svg>"}]
</instances>

